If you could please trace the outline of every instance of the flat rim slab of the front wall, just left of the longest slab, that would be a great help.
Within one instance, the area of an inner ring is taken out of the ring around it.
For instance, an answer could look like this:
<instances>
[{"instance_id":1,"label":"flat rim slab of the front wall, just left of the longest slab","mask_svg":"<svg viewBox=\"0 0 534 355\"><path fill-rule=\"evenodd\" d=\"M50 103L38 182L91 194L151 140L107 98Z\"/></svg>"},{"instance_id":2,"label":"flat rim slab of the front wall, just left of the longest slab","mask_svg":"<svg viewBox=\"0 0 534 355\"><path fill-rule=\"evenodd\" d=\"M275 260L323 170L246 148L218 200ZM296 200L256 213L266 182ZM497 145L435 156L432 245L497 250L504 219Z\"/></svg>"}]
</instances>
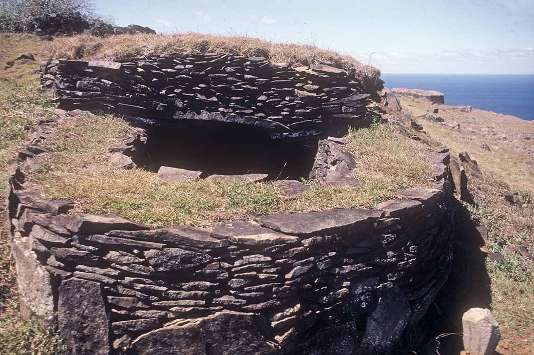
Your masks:
<instances>
[{"instance_id":1,"label":"flat rim slab of the front wall, just left of the longest slab","mask_svg":"<svg viewBox=\"0 0 534 355\"><path fill-rule=\"evenodd\" d=\"M272 229L262 228L248 221L234 221L215 225L212 235L228 238L233 243L245 245L300 244L298 237L287 236Z\"/></svg>"}]
</instances>

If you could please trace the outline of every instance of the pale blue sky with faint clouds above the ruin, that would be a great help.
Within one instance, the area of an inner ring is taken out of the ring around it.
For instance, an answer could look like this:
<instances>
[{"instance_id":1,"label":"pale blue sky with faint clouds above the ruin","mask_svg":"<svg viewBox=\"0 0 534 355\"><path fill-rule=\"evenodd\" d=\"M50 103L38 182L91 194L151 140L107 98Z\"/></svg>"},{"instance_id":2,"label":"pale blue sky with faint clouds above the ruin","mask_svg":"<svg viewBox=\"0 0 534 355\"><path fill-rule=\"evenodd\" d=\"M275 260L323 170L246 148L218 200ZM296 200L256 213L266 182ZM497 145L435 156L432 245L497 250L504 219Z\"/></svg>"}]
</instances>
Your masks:
<instances>
[{"instance_id":1,"label":"pale blue sky with faint clouds above the ruin","mask_svg":"<svg viewBox=\"0 0 534 355\"><path fill-rule=\"evenodd\" d=\"M245 35L349 54L383 73L534 74L533 0L95 0L116 25Z\"/></svg>"}]
</instances>

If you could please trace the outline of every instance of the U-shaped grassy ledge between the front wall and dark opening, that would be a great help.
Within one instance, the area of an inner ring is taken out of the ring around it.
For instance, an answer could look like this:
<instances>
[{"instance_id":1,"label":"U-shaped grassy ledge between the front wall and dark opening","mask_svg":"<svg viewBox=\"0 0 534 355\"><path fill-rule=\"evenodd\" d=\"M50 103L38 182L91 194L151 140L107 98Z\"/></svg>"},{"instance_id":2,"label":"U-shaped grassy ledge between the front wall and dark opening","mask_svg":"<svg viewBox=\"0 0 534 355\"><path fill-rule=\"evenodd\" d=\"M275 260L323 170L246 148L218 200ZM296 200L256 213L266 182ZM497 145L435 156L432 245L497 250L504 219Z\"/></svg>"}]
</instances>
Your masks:
<instances>
[{"instance_id":1,"label":"U-shaped grassy ledge between the front wall and dark opening","mask_svg":"<svg viewBox=\"0 0 534 355\"><path fill-rule=\"evenodd\" d=\"M366 181L361 187L324 187L309 182L309 190L287 200L272 183L167 183L143 169L117 170L107 162L107 147L131 129L112 116L67 120L57 128L55 138L46 141L50 153L40 156L43 167L30 184L43 188L49 197L74 199L74 212L116 214L156 228L206 226L277 212L373 208L394 198L398 188L429 185L433 172L424 159L425 146L405 138L392 126L376 125L351 131L348 136L350 149L362 156L361 168L355 173Z\"/></svg>"}]
</instances>

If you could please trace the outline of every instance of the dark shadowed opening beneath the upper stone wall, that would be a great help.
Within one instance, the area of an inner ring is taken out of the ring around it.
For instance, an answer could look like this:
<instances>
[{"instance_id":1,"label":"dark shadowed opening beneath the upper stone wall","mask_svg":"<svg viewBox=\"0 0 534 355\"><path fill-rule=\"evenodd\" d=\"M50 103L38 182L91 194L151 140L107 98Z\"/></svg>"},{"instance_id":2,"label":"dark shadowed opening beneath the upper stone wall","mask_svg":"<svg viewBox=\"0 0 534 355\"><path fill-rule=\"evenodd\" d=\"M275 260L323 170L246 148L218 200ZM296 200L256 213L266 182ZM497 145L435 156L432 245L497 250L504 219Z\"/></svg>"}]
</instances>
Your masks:
<instances>
[{"instance_id":1,"label":"dark shadowed opening beneath the upper stone wall","mask_svg":"<svg viewBox=\"0 0 534 355\"><path fill-rule=\"evenodd\" d=\"M144 165L201 171L209 175L269 174L267 180L308 178L317 154L317 141L283 141L254 128L229 124L186 127L144 127Z\"/></svg>"}]
</instances>

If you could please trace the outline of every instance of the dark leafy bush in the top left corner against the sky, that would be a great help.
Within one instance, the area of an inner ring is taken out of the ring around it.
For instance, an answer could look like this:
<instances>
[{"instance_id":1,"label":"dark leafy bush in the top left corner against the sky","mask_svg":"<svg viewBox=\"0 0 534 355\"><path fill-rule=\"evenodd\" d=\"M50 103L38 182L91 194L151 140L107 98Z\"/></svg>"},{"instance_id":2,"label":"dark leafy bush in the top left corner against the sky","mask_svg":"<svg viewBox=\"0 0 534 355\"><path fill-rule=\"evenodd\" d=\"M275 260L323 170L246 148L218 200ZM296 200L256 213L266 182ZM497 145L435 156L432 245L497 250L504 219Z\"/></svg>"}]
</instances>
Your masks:
<instances>
[{"instance_id":1,"label":"dark leafy bush in the top left corner against the sky","mask_svg":"<svg viewBox=\"0 0 534 355\"><path fill-rule=\"evenodd\" d=\"M95 21L92 0L0 0L0 31L82 33Z\"/></svg>"}]
</instances>

